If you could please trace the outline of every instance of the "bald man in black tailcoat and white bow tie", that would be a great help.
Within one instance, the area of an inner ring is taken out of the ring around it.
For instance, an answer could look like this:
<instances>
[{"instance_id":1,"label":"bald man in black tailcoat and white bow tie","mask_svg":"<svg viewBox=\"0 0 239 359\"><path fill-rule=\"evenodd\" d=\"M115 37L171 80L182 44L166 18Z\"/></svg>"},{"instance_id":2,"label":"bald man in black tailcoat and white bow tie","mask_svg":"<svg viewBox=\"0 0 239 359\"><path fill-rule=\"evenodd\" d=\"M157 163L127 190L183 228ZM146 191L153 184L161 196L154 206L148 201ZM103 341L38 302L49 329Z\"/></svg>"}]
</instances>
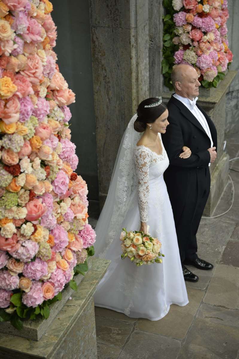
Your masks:
<instances>
[{"instance_id":1,"label":"bald man in black tailcoat and white bow tie","mask_svg":"<svg viewBox=\"0 0 239 359\"><path fill-rule=\"evenodd\" d=\"M196 282L198 276L185 265L213 268L198 258L196 234L210 191L209 166L216 159L217 132L210 117L196 104L200 86L197 71L189 65L178 65L171 79L175 93L167 105L169 126L162 136L169 157L164 180L174 214L183 276ZM184 145L192 154L182 159L179 155Z\"/></svg>"}]
</instances>

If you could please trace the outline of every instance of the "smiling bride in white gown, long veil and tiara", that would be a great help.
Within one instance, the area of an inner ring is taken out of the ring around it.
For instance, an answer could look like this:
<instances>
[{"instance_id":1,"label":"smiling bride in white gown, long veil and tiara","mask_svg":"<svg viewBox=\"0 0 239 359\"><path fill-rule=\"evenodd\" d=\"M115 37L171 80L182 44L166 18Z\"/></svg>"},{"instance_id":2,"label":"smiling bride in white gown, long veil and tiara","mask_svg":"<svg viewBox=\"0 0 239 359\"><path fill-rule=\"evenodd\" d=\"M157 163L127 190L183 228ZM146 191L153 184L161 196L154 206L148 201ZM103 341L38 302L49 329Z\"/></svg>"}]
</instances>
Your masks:
<instances>
[{"instance_id":1,"label":"smiling bride in white gown, long veil and tiara","mask_svg":"<svg viewBox=\"0 0 239 359\"><path fill-rule=\"evenodd\" d=\"M179 257L174 219L163 173L169 165L161 141L169 122L160 98L139 104L118 151L106 203L95 232L96 255L111 260L94 295L95 306L113 309L133 318L159 320L170 304L188 303ZM140 133L144 132L140 138ZM184 146L180 155L187 158ZM121 259L122 228L140 230L162 243L162 264L137 267Z\"/></svg>"}]
</instances>

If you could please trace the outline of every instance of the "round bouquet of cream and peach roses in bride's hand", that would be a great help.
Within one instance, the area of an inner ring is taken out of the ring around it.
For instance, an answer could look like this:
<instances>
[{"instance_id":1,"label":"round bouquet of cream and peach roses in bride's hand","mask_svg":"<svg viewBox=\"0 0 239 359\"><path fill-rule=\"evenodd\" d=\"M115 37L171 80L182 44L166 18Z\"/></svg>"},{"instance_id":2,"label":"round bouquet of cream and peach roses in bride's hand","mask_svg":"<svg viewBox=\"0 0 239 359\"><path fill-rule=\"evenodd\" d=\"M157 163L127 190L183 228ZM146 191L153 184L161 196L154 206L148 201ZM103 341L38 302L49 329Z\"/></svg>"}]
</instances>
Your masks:
<instances>
[{"instance_id":1,"label":"round bouquet of cream and peach roses in bride's hand","mask_svg":"<svg viewBox=\"0 0 239 359\"><path fill-rule=\"evenodd\" d=\"M153 238L150 234L144 234L143 232L130 231L127 232L123 228L120 235L122 255L121 258L130 258L131 262L134 262L137 266L142 264L162 263L161 257L164 257L160 253L161 242L158 238Z\"/></svg>"}]
</instances>

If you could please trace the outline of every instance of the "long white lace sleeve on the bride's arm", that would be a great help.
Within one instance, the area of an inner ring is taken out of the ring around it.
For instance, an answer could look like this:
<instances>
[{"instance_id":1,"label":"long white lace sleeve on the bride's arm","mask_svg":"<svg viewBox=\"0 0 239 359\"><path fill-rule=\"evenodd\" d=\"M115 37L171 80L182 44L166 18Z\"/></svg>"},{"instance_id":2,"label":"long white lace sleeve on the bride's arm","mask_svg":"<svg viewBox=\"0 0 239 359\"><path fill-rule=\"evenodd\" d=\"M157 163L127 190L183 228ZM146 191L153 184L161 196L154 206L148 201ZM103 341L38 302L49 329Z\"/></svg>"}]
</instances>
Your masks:
<instances>
[{"instance_id":1,"label":"long white lace sleeve on the bride's arm","mask_svg":"<svg viewBox=\"0 0 239 359\"><path fill-rule=\"evenodd\" d=\"M139 197L139 211L141 222L148 220L148 198L149 198L149 164L150 153L146 149L136 149L134 163L137 178L137 190Z\"/></svg>"}]
</instances>

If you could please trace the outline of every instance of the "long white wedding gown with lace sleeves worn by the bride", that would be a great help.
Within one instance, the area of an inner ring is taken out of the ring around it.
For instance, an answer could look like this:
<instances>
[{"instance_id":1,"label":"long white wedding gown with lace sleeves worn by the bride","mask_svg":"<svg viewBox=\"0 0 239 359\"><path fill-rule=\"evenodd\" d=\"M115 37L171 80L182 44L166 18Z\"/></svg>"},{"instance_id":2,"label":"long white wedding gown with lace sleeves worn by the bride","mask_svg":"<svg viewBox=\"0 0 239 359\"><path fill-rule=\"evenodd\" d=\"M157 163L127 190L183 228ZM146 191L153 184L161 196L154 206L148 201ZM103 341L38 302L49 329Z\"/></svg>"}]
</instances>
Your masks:
<instances>
[{"instance_id":1,"label":"long white wedding gown with lace sleeves worn by the bride","mask_svg":"<svg viewBox=\"0 0 239 359\"><path fill-rule=\"evenodd\" d=\"M160 134L159 137L161 139ZM163 147L162 141L161 144ZM164 147L158 155L145 146L136 146L133 159L137 186L130 195L130 205L118 233L104 253L103 257L111 260L111 264L98 285L94 301L97 307L154 321L168 313L170 304L185 306L188 297L172 207L163 178L169 165L167 153ZM147 222L150 235L161 241L161 253L165 255L162 264L137 267L129 258L121 259L121 229L139 230L140 220ZM100 228L97 227L98 234ZM96 246L96 249L99 253L100 248Z\"/></svg>"}]
</instances>

